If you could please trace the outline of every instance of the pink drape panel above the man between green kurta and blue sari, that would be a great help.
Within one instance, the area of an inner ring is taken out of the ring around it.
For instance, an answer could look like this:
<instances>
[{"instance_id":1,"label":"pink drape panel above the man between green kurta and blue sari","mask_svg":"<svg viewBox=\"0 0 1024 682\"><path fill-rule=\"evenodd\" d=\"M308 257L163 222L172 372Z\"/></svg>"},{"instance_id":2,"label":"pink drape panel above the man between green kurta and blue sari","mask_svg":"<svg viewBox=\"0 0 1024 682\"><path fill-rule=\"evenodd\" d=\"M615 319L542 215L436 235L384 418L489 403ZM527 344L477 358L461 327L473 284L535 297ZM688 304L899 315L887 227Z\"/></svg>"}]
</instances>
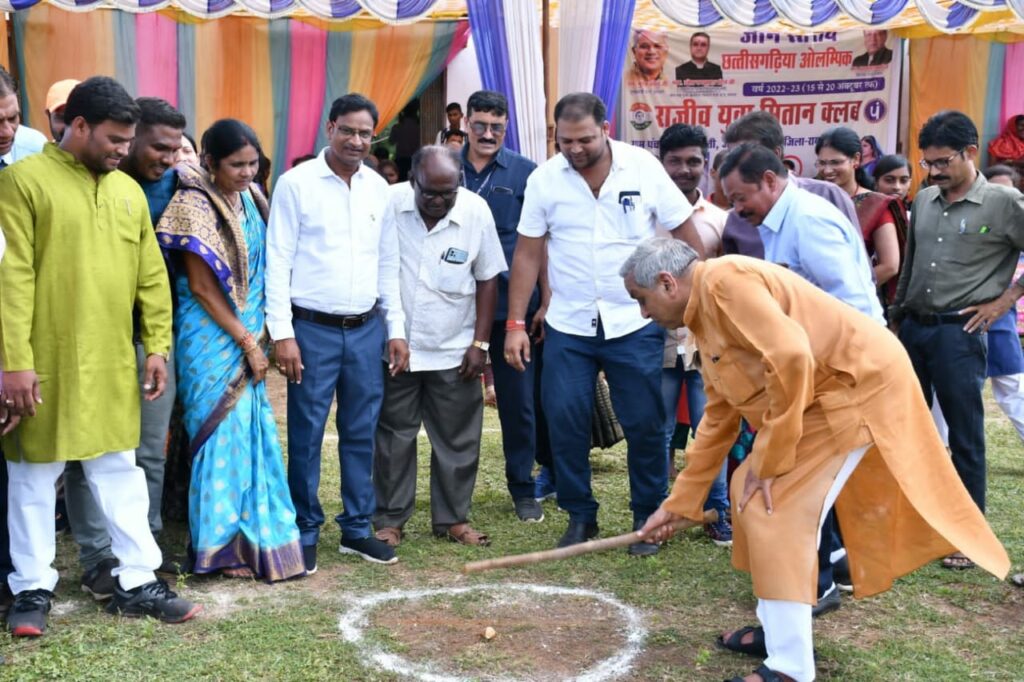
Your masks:
<instances>
[{"instance_id":1,"label":"pink drape panel above the man between green kurta and blue sari","mask_svg":"<svg viewBox=\"0 0 1024 682\"><path fill-rule=\"evenodd\" d=\"M157 12L135 14L135 73L141 97L178 105L178 38L174 19Z\"/></svg>"}]
</instances>

